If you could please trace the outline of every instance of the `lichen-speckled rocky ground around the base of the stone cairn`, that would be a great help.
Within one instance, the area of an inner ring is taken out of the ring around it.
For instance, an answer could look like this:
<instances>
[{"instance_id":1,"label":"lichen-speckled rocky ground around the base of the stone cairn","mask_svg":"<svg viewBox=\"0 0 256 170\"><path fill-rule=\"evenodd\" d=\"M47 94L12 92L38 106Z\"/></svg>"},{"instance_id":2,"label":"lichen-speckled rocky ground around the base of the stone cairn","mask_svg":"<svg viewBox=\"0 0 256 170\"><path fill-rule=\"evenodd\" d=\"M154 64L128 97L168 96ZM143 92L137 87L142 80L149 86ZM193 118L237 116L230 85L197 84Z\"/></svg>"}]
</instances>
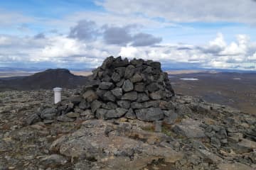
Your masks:
<instances>
[{"instance_id":1,"label":"lichen-speckled rocky ground around the base of the stone cairn","mask_svg":"<svg viewBox=\"0 0 256 170\"><path fill-rule=\"evenodd\" d=\"M256 169L254 115L188 96L171 102L169 124L73 112L28 125L54 107L53 91L1 92L0 169Z\"/></svg>"}]
</instances>

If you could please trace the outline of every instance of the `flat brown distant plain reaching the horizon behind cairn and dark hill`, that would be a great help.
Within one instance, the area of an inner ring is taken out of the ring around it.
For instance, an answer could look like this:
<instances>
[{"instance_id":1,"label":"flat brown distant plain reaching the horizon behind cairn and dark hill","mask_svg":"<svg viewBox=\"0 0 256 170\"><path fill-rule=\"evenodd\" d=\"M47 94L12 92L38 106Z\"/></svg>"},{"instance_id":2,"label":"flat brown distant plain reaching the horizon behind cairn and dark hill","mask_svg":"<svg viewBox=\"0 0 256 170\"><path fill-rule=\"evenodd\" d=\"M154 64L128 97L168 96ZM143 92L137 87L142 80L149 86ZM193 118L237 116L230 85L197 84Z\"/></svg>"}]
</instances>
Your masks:
<instances>
[{"instance_id":1,"label":"flat brown distant plain reaching the horizon behind cairn and dark hill","mask_svg":"<svg viewBox=\"0 0 256 170\"><path fill-rule=\"evenodd\" d=\"M90 71L70 72L85 77L92 74ZM206 70L171 70L166 72L169 74L169 79L177 94L198 96L210 103L239 108L245 113L256 115L256 73ZM0 80L29 76L34 73L18 70L0 72Z\"/></svg>"}]
</instances>

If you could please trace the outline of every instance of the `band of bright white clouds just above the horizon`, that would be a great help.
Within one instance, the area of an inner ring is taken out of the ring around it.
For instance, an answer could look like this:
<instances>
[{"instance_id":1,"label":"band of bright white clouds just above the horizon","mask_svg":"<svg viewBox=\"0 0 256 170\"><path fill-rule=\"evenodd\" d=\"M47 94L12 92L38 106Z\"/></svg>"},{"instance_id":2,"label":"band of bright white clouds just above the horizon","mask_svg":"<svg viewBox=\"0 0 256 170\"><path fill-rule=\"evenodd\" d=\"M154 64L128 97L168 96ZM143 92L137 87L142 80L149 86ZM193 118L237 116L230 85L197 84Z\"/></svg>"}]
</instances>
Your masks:
<instances>
[{"instance_id":1,"label":"band of bright white clouds just above the horizon","mask_svg":"<svg viewBox=\"0 0 256 170\"><path fill-rule=\"evenodd\" d=\"M8 42L8 43L6 43ZM43 39L0 36L1 65L10 62L40 64L49 62L58 67L96 67L110 55L143 58L163 63L164 67L182 63L183 67L217 69L254 69L256 45L247 35L238 35L236 41L227 43L218 33L208 45L161 44L151 47L109 45L104 40L85 42L64 35ZM215 50L215 49L218 50ZM13 65L13 67L18 67Z\"/></svg>"}]
</instances>

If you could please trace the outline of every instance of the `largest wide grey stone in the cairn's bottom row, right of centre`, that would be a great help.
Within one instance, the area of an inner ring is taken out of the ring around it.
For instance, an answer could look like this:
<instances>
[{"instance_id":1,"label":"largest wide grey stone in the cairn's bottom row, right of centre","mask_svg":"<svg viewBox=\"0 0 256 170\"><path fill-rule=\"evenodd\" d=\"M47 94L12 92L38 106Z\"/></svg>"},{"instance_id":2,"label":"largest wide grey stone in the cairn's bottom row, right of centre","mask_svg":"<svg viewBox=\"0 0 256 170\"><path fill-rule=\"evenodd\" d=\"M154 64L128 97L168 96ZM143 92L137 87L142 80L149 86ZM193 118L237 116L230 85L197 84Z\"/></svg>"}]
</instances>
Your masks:
<instances>
[{"instance_id":1,"label":"largest wide grey stone in the cairn's bottom row, right of centre","mask_svg":"<svg viewBox=\"0 0 256 170\"><path fill-rule=\"evenodd\" d=\"M160 108L142 108L135 110L136 116L139 120L155 121L164 118L164 113Z\"/></svg>"}]
</instances>

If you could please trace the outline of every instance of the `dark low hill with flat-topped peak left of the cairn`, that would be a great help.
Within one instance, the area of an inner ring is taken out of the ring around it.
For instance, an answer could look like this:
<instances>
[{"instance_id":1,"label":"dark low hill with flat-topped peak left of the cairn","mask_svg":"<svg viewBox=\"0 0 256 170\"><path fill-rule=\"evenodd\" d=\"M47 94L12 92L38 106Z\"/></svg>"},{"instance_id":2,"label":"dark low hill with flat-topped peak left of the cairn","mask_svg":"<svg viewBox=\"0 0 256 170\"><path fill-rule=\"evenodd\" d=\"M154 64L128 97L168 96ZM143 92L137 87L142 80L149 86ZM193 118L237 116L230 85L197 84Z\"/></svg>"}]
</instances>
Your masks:
<instances>
[{"instance_id":1,"label":"dark low hill with flat-topped peak left of the cairn","mask_svg":"<svg viewBox=\"0 0 256 170\"><path fill-rule=\"evenodd\" d=\"M0 91L53 89L56 86L74 89L87 84L88 81L88 77L75 76L68 69L47 69L31 76L0 79Z\"/></svg>"}]
</instances>

